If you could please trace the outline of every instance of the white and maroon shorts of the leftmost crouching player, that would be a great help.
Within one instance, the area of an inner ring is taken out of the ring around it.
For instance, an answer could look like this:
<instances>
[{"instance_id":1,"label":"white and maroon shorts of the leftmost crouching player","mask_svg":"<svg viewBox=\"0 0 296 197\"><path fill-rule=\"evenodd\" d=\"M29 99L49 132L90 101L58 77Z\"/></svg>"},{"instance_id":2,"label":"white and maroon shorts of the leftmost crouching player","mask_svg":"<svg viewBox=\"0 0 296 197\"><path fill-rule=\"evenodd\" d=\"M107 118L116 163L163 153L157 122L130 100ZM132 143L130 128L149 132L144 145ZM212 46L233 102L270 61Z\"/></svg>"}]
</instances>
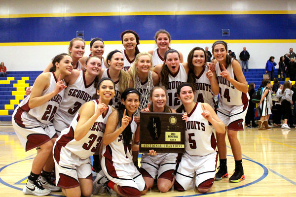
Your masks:
<instances>
[{"instance_id":1,"label":"white and maroon shorts of the leftmost crouching player","mask_svg":"<svg viewBox=\"0 0 296 197\"><path fill-rule=\"evenodd\" d=\"M32 119L32 121L28 121L27 119L23 121L23 125L19 125L15 122L14 116L12 116L11 122L15 133L26 151L41 146L51 138L57 137L53 125L44 125L36 119ZM30 128L26 126L30 126Z\"/></svg>"}]
</instances>

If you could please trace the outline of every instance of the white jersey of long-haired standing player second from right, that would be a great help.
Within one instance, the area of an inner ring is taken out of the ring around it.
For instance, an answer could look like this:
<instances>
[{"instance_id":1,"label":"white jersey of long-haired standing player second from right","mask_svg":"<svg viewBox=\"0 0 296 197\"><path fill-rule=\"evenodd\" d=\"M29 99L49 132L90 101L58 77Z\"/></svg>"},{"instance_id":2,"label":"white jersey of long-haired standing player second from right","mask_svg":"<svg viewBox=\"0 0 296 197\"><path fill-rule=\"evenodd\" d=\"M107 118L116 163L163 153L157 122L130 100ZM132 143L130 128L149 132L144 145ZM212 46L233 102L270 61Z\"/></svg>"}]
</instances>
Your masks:
<instances>
[{"instance_id":1,"label":"white jersey of long-haired standing player second from right","mask_svg":"<svg viewBox=\"0 0 296 197\"><path fill-rule=\"evenodd\" d=\"M212 93L211 82L206 75L206 72L208 70L208 66L203 66L203 70L201 71L199 76L195 75L196 91L194 101L209 103L213 107L213 109L215 109L215 95Z\"/></svg>"}]
</instances>

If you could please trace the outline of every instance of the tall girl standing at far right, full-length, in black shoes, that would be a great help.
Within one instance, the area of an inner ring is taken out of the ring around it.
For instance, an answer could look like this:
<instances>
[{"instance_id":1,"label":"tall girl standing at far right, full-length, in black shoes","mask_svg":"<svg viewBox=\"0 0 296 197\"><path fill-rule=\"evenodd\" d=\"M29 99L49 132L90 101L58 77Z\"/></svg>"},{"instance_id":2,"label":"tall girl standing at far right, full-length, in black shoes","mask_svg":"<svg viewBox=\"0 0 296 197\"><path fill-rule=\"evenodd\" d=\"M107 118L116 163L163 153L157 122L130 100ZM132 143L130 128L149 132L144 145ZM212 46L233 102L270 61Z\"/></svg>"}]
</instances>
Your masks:
<instances>
[{"instance_id":1,"label":"tall girl standing at far right, full-length, in black shoes","mask_svg":"<svg viewBox=\"0 0 296 197\"><path fill-rule=\"evenodd\" d=\"M245 79L239 62L227 54L227 44L216 41L212 46L215 59L218 61L215 70L220 88L218 117L226 126L227 136L235 160L235 171L230 182L245 179L242 164L242 150L237 138L237 131L244 130L245 117L249 104L248 82ZM217 133L220 166L216 180L228 177L226 165L226 132Z\"/></svg>"}]
</instances>

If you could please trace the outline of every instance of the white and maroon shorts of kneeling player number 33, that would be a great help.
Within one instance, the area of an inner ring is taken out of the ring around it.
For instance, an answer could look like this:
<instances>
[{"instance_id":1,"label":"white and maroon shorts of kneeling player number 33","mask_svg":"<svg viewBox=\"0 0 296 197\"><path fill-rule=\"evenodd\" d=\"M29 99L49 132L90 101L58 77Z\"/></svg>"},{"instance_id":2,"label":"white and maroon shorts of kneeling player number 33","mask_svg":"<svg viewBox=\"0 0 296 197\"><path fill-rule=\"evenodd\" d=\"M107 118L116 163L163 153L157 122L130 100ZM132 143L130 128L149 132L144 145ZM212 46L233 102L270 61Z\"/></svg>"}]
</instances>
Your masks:
<instances>
[{"instance_id":1,"label":"white and maroon shorts of kneeling player number 33","mask_svg":"<svg viewBox=\"0 0 296 197\"><path fill-rule=\"evenodd\" d=\"M92 180L90 158L81 159L71 151L58 146L53 147L53 160L56 171L56 184L61 188L75 188L79 186L80 178Z\"/></svg>"}]
</instances>

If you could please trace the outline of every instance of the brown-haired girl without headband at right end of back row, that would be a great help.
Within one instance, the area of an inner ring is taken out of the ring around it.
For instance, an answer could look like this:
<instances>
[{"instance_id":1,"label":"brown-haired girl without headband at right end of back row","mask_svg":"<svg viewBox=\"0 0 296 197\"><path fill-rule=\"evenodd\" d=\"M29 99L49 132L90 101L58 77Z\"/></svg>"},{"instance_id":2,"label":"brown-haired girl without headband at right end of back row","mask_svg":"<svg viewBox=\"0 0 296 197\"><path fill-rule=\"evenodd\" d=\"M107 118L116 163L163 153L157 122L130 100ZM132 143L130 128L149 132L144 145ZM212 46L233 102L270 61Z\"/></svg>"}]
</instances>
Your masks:
<instances>
[{"instance_id":1,"label":"brown-haired girl without headband at right end of back row","mask_svg":"<svg viewBox=\"0 0 296 197\"><path fill-rule=\"evenodd\" d=\"M154 39L157 48L148 51L148 53L152 56L153 66L156 66L163 64L165 52L171 49L171 35L165 30L159 30L155 33ZM180 51L178 52L180 54L180 62L183 63L183 55Z\"/></svg>"}]
</instances>

